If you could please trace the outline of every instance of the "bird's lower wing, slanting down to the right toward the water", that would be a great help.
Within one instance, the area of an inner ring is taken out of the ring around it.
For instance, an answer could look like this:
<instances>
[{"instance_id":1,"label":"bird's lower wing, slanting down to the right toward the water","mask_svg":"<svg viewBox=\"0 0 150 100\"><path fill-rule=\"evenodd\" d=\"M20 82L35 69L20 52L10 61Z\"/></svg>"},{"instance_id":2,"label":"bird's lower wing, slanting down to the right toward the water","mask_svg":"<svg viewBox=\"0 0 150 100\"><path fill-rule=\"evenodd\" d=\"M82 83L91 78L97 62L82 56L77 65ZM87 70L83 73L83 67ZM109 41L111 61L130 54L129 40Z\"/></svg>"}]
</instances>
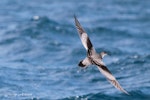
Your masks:
<instances>
[{"instance_id":1,"label":"bird's lower wing, slanting down to the right toward the water","mask_svg":"<svg viewBox=\"0 0 150 100\"><path fill-rule=\"evenodd\" d=\"M127 91L125 91L125 90L121 87L121 85L119 84L119 82L116 80L116 78L112 75L112 73L109 71L109 69L108 69L105 65L101 65L101 64L99 64L99 63L97 63L97 62L94 62L94 63L97 65L99 71L107 78L107 80L108 80L115 88L117 88L118 90L120 90L120 91L122 91L122 92L124 92L124 93L126 93L126 94L129 95L129 93L128 93Z\"/></svg>"}]
</instances>

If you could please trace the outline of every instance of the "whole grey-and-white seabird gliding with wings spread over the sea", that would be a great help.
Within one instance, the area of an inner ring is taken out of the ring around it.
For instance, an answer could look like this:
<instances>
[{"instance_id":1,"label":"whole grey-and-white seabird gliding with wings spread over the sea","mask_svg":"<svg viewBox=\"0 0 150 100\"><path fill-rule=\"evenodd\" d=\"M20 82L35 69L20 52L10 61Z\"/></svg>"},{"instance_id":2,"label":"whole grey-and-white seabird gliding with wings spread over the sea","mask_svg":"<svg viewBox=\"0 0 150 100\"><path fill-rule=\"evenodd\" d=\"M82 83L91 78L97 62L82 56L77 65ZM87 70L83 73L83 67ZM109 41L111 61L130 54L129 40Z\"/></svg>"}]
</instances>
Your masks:
<instances>
[{"instance_id":1,"label":"whole grey-and-white seabird gliding with wings spread over the sea","mask_svg":"<svg viewBox=\"0 0 150 100\"><path fill-rule=\"evenodd\" d=\"M116 78L112 75L112 73L108 70L108 68L105 66L104 62L102 61L103 57L105 55L107 55L107 53L106 52L101 52L101 53L96 52L96 50L93 47L87 33L84 31L84 29L80 25L80 23L77 20L76 16L74 18L75 18L75 24L76 24L81 42L82 42L82 44L85 47L86 52L87 52L87 57L85 57L85 59L81 60L78 65L80 67L87 67L89 65L96 65L98 67L99 71L107 78L107 80L112 85L114 85L120 91L128 94L128 92L125 91L120 86L120 84L118 83Z\"/></svg>"}]
</instances>

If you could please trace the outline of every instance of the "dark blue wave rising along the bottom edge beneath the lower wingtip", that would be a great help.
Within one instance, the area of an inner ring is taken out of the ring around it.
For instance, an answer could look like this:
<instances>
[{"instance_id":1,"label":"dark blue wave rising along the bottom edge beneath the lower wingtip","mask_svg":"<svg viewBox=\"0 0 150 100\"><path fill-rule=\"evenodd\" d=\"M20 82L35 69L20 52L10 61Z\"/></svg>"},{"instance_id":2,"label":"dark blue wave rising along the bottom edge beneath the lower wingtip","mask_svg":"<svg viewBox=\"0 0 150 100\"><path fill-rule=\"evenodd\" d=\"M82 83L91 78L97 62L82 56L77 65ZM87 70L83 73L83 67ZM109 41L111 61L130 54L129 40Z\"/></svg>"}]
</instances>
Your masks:
<instances>
[{"instance_id":1,"label":"dark blue wave rising along the bottom edge beneath the lower wingtip","mask_svg":"<svg viewBox=\"0 0 150 100\"><path fill-rule=\"evenodd\" d=\"M144 94L140 90L129 92L130 95L126 94L103 94L103 93L89 93L81 96L66 97L58 100L149 100L150 95Z\"/></svg>"}]
</instances>

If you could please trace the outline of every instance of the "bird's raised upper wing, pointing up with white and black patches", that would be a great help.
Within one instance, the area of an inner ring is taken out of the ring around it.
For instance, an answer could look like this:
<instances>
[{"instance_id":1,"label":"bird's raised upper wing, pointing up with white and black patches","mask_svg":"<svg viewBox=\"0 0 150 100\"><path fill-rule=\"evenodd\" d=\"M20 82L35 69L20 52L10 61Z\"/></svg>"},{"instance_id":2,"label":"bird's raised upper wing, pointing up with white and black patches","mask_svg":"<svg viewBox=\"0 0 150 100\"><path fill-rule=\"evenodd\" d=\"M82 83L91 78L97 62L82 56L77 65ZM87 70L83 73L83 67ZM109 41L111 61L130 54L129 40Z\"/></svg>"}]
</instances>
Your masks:
<instances>
[{"instance_id":1,"label":"bird's raised upper wing, pointing up with white and black patches","mask_svg":"<svg viewBox=\"0 0 150 100\"><path fill-rule=\"evenodd\" d=\"M76 28L78 30L81 42L83 44L83 46L85 47L85 49L89 52L91 51L95 51L95 49L93 48L93 45L87 35L87 33L84 31L84 29L82 28L82 26L80 25L80 22L78 21L78 19L76 18L76 16L74 16L75 19L75 25Z\"/></svg>"}]
</instances>

